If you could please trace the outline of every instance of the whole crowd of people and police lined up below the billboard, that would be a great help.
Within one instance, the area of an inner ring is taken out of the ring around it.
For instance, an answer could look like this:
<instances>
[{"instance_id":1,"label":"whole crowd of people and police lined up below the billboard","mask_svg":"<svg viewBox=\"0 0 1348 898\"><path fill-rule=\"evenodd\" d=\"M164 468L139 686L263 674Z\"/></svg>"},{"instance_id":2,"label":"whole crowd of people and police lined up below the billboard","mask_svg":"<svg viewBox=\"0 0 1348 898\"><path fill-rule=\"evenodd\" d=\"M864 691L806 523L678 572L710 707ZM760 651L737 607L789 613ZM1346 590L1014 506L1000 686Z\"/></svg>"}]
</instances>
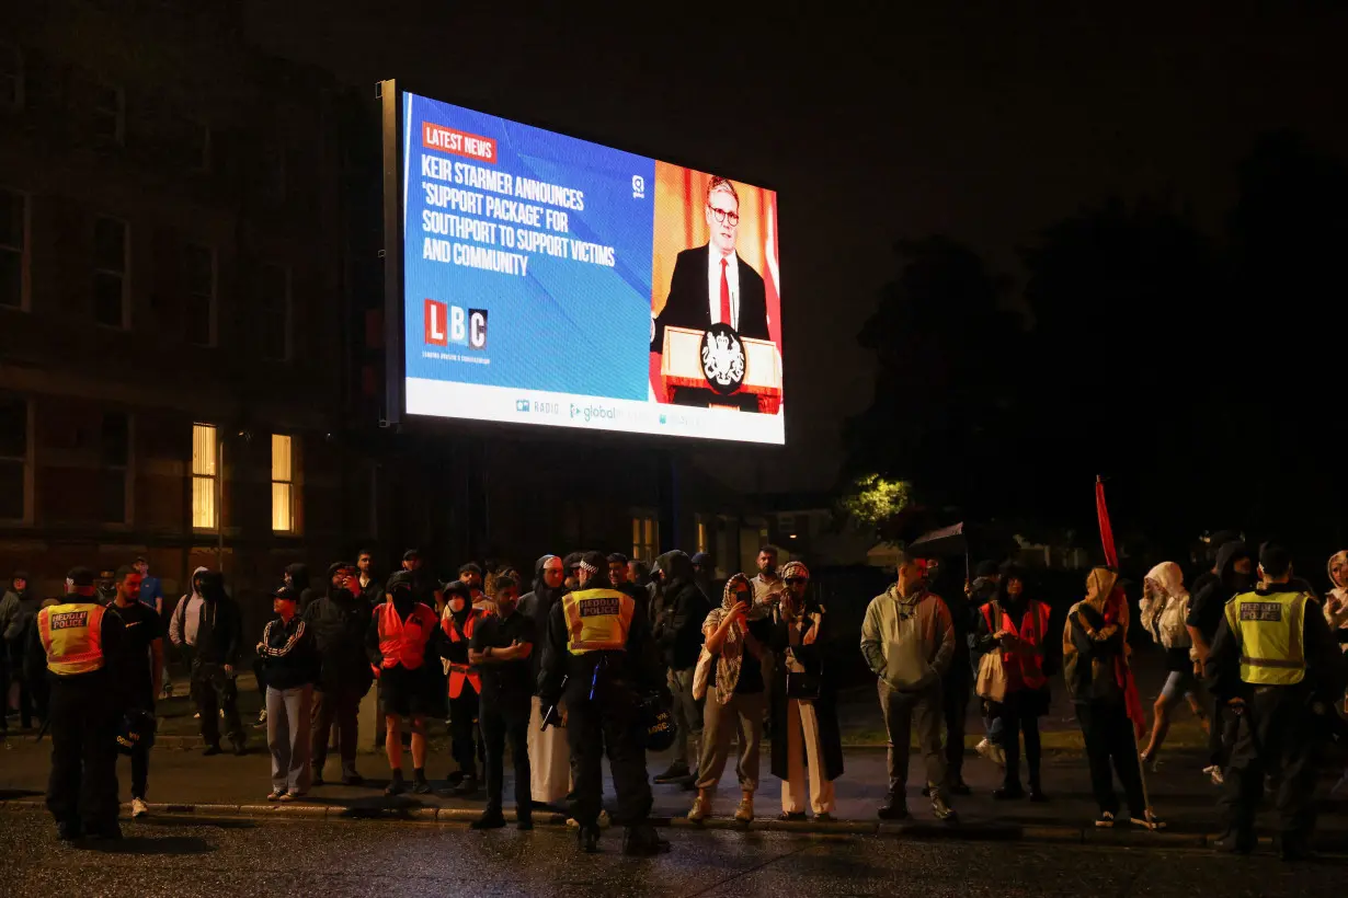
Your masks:
<instances>
[{"instance_id":1,"label":"whole crowd of people and police lined up below the billboard","mask_svg":"<svg viewBox=\"0 0 1348 898\"><path fill-rule=\"evenodd\" d=\"M667 850L647 820L652 708L667 708L675 730L670 766L654 782L694 793L690 821L716 815L732 742L740 786L733 819L755 819L764 728L772 735L770 769L782 784L780 819L832 820L834 781L844 771L838 665L828 657L838 640L810 590L809 568L778 560L778 551L764 547L754 576L732 574L720 588L706 555L678 551L661 555L648 571L617 553L545 555L531 583L499 563L485 571L469 563L441 582L415 551L383 582L369 552L334 563L319 590L310 588L303 565L291 565L270 594L272 614L253 646L272 761L267 797L290 802L324 786L333 742L340 781L363 784L357 712L377 684L386 794L435 790L426 722L446 719L454 769L439 792L474 797L485 790L477 829L507 825L508 746L518 827L531 828L535 809L563 808L581 848L597 850L608 816L600 775L607 754L617 793L612 821L627 828L624 851ZM1348 552L1329 563L1333 588L1322 606L1278 545L1256 557L1237 540L1225 543L1192 598L1180 565L1153 568L1139 617L1163 646L1169 676L1144 740L1130 668L1132 614L1116 571L1089 572L1086 595L1072 606L1060 635L1016 564L980 564L962 591L948 595L931 588L937 567L902 557L895 583L869 602L861 625L860 650L876 677L888 734L882 819L909 817L915 738L922 794L936 819L956 820L954 797L969 792L962 762L971 701L979 703L984 724L977 751L1004 771L993 798L1049 801L1039 719L1049 710L1050 677L1061 668L1084 735L1097 827L1123 820L1165 827L1151 806L1144 766L1155 762L1170 714L1188 697L1212 734L1205 773L1224 786L1228 832L1219 844L1251 850L1263 780L1275 775L1283 854L1306 854L1314 823L1312 751L1337 731L1348 685L1339 649L1348 635L1335 635L1348 634ZM104 757L112 738L106 751L100 739L116 726L109 707L152 715L156 696L170 688L162 590L155 582L147 595L143 560L100 575L77 568L66 583L65 599L43 603L16 574L0 602L0 631L8 669L22 669L24 726L31 714L50 715L49 806L61 836L115 836L116 781ZM168 640L190 670L206 754L221 751L221 720L232 749L247 751L236 685L249 644L243 619L220 572L206 568L193 572L190 592L168 614ZM43 666L47 697L36 688ZM135 816L146 813L147 743L142 738L132 749Z\"/></svg>"}]
</instances>

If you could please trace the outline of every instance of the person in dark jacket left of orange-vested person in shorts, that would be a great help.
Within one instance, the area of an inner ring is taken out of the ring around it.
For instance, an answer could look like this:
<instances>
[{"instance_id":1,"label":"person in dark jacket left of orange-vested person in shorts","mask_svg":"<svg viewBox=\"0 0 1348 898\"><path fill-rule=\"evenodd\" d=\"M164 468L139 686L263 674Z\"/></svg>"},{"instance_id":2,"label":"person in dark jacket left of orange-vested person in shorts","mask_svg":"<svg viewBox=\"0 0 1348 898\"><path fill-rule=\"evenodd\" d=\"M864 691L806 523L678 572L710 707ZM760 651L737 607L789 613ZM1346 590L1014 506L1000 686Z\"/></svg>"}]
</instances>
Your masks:
<instances>
[{"instance_id":1,"label":"person in dark jacket left of orange-vested person in shorts","mask_svg":"<svg viewBox=\"0 0 1348 898\"><path fill-rule=\"evenodd\" d=\"M318 656L318 677L310 708L310 765L313 785L324 785L329 736L336 724L341 755L341 782L364 782L356 771L356 743L360 701L369 692L373 676L365 658L365 635L375 606L361 588L356 567L337 561L328 568L328 594L314 599L302 618Z\"/></svg>"}]
</instances>

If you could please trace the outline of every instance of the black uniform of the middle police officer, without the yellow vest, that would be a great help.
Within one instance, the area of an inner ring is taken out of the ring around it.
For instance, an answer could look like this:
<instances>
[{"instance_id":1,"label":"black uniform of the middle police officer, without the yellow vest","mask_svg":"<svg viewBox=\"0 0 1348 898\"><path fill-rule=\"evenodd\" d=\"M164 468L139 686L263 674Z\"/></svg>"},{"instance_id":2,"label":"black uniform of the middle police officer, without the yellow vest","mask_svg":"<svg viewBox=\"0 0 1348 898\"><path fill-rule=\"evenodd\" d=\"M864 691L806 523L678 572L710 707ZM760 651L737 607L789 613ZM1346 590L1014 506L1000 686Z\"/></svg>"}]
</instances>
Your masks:
<instances>
[{"instance_id":1,"label":"black uniform of the middle police officer, without the yellow vest","mask_svg":"<svg viewBox=\"0 0 1348 898\"><path fill-rule=\"evenodd\" d=\"M589 588L599 588L599 584ZM572 654L568 635L562 603L557 602L542 640L539 696L543 707L554 705L559 697L566 700L566 742L576 778L572 817L582 827L599 823L604 789L601 761L607 750L617 792L613 823L643 824L651 813L651 785L646 775L646 749L638 738L639 700L644 692L666 688L646 609L636 603L621 652Z\"/></svg>"}]
</instances>

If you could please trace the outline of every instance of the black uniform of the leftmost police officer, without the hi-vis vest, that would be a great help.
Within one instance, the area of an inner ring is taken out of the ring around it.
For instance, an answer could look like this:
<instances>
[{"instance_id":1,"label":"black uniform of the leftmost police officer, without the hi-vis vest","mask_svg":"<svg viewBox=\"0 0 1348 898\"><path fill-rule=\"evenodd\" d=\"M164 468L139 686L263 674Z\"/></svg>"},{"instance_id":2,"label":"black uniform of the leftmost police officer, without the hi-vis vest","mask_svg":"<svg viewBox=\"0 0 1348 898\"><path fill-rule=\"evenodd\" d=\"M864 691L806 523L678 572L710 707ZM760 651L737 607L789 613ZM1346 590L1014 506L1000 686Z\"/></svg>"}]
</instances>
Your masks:
<instances>
[{"instance_id":1,"label":"black uniform of the leftmost police officer, without the hi-vis vest","mask_svg":"<svg viewBox=\"0 0 1348 898\"><path fill-rule=\"evenodd\" d=\"M66 602L96 605L93 596L71 595ZM36 681L46 676L51 687L47 809L58 824L82 823L94 833L117 825L116 735L121 701L108 662L116 657L121 634L120 618L104 614L100 640L104 666L90 673L62 676L46 670L47 652L36 626L26 654L28 679Z\"/></svg>"}]
</instances>

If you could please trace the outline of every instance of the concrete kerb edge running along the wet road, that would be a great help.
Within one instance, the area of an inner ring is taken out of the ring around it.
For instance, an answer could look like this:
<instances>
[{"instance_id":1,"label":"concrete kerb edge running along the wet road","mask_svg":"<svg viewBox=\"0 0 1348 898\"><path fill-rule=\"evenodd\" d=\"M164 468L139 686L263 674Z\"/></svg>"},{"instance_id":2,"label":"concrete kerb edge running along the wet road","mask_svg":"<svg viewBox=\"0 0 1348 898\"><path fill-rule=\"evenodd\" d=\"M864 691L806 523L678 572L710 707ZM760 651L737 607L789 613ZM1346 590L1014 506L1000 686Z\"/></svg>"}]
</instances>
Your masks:
<instances>
[{"instance_id":1,"label":"concrete kerb edge running along the wet road","mask_svg":"<svg viewBox=\"0 0 1348 898\"><path fill-rule=\"evenodd\" d=\"M0 801L0 810L46 810L42 801L11 798ZM123 805L129 816L131 805ZM369 808L348 805L228 805L228 804L151 804L150 812L160 817L247 817L255 820L373 820L388 823L435 823L445 825L468 825L481 816L480 810L465 808ZM507 812L507 820L514 821L514 812ZM689 831L740 831L740 832L789 832L802 836L886 836L914 841L937 841L957 839L961 841L1019 841L1038 844L1089 844L1116 848L1205 848L1217 836L1189 832L1146 832L1135 827L1117 829L1097 829L1092 825L1053 824L942 824L937 821L869 823L864 820L838 820L834 823L791 823L783 820L755 820L739 823L731 819L712 819L702 823L689 823L685 817L651 817L655 827ZM534 825L541 828L566 828L565 815L534 815ZM1329 836L1328 839L1325 836ZM1260 837L1262 845L1270 844L1267 836ZM1326 850L1348 850L1348 833L1321 833L1320 843ZM1326 844L1328 843L1328 844Z\"/></svg>"}]
</instances>

